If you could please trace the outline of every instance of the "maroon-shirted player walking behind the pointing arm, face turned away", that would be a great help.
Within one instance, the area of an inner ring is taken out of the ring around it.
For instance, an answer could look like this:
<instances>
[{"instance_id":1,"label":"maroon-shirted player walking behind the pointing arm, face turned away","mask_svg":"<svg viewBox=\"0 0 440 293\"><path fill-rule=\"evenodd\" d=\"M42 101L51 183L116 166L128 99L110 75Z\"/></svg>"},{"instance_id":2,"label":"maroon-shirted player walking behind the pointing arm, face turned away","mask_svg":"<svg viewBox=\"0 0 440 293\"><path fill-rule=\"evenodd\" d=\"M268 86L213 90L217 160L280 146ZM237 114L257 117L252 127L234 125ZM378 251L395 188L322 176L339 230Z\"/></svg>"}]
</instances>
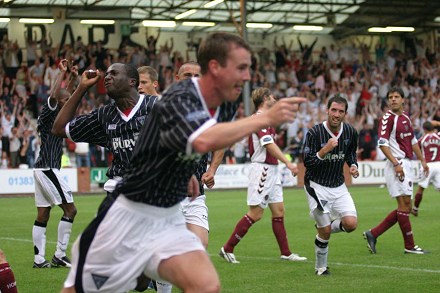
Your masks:
<instances>
[{"instance_id":1,"label":"maroon-shirted player walking behind the pointing arm, face turned away","mask_svg":"<svg viewBox=\"0 0 440 293\"><path fill-rule=\"evenodd\" d=\"M277 102L268 88L253 91L252 101L257 112L255 118L269 110ZM292 253L287 242L284 227L284 203L281 174L278 172L278 160L283 162L294 176L298 173L275 143L276 131L272 126L265 126L249 136L249 184L247 192L248 212L235 226L231 237L220 249L219 255L229 263L239 263L234 255L234 248L247 234L249 228L258 222L264 210L269 206L272 213L272 230L280 248L281 260L305 261L306 257Z\"/></svg>"}]
</instances>

